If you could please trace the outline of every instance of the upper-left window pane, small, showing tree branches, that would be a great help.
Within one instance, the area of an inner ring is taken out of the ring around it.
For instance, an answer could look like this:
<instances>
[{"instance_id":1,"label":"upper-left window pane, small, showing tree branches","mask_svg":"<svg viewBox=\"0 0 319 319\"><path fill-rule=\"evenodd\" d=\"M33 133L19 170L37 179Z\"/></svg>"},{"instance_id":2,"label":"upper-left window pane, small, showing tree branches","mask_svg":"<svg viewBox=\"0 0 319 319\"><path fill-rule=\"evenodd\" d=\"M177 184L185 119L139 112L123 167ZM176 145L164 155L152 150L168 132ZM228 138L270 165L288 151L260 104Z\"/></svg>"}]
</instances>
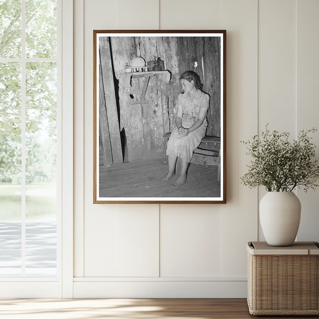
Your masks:
<instances>
[{"instance_id":1,"label":"upper-left window pane, small, showing tree branches","mask_svg":"<svg viewBox=\"0 0 319 319\"><path fill-rule=\"evenodd\" d=\"M21 57L21 0L0 0L0 57Z\"/></svg>"}]
</instances>

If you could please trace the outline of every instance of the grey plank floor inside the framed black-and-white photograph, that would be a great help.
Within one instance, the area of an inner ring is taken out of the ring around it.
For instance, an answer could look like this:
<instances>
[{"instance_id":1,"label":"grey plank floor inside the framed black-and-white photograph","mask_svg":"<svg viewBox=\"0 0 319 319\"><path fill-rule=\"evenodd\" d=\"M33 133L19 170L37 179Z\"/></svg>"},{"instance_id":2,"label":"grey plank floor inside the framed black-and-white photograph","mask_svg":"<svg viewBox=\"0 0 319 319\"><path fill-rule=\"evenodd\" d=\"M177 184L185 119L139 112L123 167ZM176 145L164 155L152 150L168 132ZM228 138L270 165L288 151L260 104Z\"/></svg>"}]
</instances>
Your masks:
<instances>
[{"instance_id":1,"label":"grey plank floor inside the framed black-and-white photograph","mask_svg":"<svg viewBox=\"0 0 319 319\"><path fill-rule=\"evenodd\" d=\"M101 164L101 162L100 162ZM102 160L103 164L103 160ZM189 164L187 181L175 186L178 176L160 182L167 174L167 157L134 163L100 165L100 197L220 197L218 167Z\"/></svg>"}]
</instances>

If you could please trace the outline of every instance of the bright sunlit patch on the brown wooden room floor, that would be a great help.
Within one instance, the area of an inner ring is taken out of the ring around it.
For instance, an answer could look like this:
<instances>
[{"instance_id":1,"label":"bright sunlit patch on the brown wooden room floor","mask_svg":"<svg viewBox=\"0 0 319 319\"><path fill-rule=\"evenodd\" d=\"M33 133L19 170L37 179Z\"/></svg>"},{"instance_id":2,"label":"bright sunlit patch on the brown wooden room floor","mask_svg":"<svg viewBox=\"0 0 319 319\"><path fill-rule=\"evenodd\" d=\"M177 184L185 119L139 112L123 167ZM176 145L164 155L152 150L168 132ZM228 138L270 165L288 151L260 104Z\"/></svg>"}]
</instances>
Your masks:
<instances>
[{"instance_id":1,"label":"bright sunlit patch on the brown wooden room floor","mask_svg":"<svg viewBox=\"0 0 319 319\"><path fill-rule=\"evenodd\" d=\"M182 310L182 309L181 309ZM147 299L0 299L1 319L205 319L179 316Z\"/></svg>"}]
</instances>

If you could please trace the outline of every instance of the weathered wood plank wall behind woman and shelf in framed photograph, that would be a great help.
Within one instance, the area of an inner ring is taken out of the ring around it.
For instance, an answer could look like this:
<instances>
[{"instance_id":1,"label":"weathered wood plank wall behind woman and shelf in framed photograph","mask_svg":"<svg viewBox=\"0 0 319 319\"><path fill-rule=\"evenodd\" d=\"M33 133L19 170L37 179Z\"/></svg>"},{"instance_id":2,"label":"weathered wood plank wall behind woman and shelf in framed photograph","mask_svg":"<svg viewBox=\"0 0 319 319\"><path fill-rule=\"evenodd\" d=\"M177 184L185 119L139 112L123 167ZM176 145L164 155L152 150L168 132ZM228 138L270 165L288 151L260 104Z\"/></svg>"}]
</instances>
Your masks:
<instances>
[{"instance_id":1,"label":"weathered wood plank wall behind woman and shelf in framed photograph","mask_svg":"<svg viewBox=\"0 0 319 319\"><path fill-rule=\"evenodd\" d=\"M181 93L179 77L194 70L202 79L203 91L211 97L207 135L220 137L220 42L211 37L111 37L115 77L135 56L145 61L160 57L171 73L169 83L151 77L145 100L140 100L145 78L133 78L131 86L119 86L120 130L125 129L129 161L165 156L163 135L174 125L176 98ZM195 67L197 62L197 67ZM204 71L203 71L204 69ZM105 87L104 87L105 89ZM108 116L110 118L110 116Z\"/></svg>"}]
</instances>

